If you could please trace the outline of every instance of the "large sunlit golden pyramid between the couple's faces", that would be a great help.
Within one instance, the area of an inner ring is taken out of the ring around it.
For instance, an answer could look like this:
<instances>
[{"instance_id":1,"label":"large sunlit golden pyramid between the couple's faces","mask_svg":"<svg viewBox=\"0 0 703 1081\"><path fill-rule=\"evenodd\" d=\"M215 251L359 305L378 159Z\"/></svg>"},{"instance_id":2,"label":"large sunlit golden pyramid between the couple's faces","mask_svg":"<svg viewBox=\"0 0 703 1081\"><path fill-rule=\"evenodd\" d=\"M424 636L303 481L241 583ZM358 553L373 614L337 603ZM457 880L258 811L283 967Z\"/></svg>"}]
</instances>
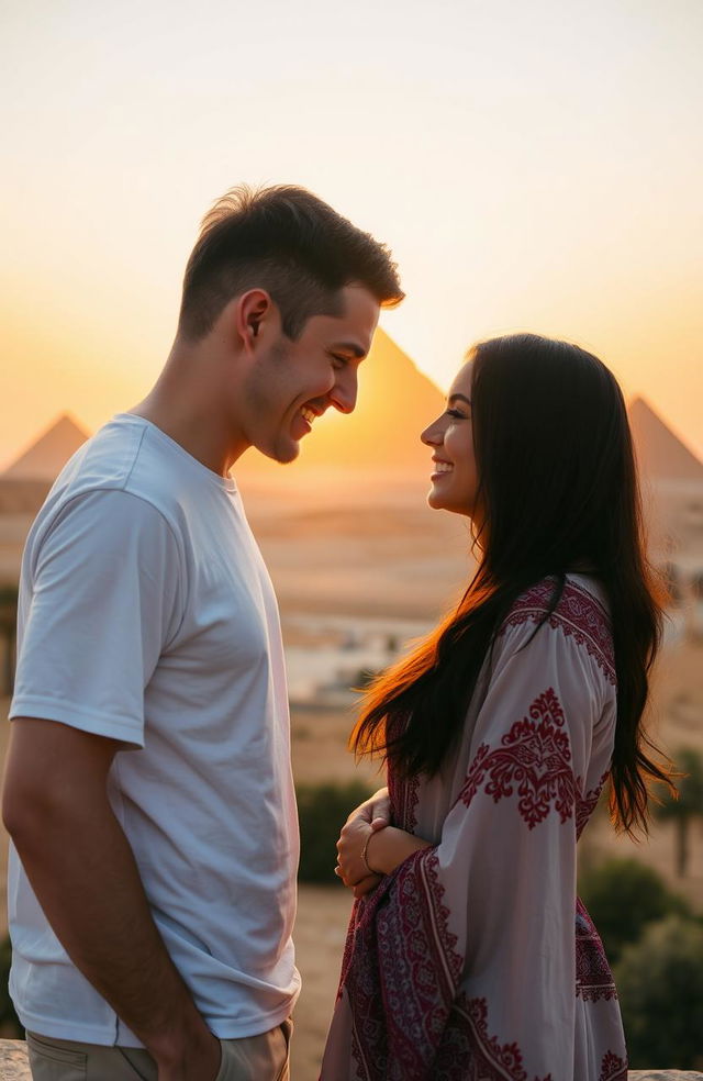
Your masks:
<instances>
[{"instance_id":1,"label":"large sunlit golden pyramid between the couple's faces","mask_svg":"<svg viewBox=\"0 0 703 1081\"><path fill-rule=\"evenodd\" d=\"M380 327L359 367L354 413L330 409L300 444L297 480L322 468L428 476L431 452L420 433L444 409L444 395ZM250 450L236 464L238 479L281 475L278 463Z\"/></svg>"}]
</instances>

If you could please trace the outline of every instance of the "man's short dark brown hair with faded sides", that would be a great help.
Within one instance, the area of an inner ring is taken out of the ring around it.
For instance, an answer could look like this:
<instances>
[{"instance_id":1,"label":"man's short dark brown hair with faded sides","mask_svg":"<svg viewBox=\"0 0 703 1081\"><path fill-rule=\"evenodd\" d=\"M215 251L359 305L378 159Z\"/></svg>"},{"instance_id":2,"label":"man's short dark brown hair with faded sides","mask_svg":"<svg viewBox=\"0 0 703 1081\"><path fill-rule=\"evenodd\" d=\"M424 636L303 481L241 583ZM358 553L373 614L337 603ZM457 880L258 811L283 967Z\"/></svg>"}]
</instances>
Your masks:
<instances>
[{"instance_id":1,"label":"man's short dark brown hair with faded sides","mask_svg":"<svg viewBox=\"0 0 703 1081\"><path fill-rule=\"evenodd\" d=\"M233 188L203 219L186 267L179 333L202 338L233 297L259 287L277 304L283 333L297 338L311 315L341 314L337 294L352 282L386 308L404 297L386 245L311 191Z\"/></svg>"}]
</instances>

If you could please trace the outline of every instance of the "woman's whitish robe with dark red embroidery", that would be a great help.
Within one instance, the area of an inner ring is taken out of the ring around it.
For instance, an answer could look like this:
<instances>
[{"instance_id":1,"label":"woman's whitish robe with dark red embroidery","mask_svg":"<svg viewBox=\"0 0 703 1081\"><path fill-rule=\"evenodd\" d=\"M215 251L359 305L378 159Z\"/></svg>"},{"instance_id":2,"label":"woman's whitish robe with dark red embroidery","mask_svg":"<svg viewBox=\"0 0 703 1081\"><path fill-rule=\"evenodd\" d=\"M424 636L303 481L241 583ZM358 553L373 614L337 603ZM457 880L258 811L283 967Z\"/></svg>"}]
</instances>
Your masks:
<instances>
[{"instance_id":1,"label":"woman's whitish robe with dark red embroidery","mask_svg":"<svg viewBox=\"0 0 703 1081\"><path fill-rule=\"evenodd\" d=\"M615 671L592 580L504 621L440 774L389 776L432 842L355 904L321 1081L625 1081L615 987L576 896L607 774ZM490 668L490 670L489 670Z\"/></svg>"}]
</instances>

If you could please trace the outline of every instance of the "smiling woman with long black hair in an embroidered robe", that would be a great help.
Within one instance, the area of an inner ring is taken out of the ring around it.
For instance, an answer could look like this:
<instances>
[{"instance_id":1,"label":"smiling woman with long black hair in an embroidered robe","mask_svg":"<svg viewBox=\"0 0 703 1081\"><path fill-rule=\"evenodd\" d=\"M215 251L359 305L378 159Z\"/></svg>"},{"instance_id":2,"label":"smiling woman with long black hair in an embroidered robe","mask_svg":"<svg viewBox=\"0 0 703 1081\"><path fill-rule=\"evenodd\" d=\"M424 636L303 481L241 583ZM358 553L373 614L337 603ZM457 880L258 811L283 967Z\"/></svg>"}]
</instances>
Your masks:
<instances>
[{"instance_id":1,"label":"smiling woman with long black hair in an embroidered robe","mask_svg":"<svg viewBox=\"0 0 703 1081\"><path fill-rule=\"evenodd\" d=\"M660 606L623 397L577 346L498 338L422 439L429 505L471 520L479 566L353 734L386 758L392 825L357 816L337 846L361 900L322 1081L624 1081L616 990L576 898L609 773L628 832L647 781L667 781L641 729Z\"/></svg>"}]
</instances>

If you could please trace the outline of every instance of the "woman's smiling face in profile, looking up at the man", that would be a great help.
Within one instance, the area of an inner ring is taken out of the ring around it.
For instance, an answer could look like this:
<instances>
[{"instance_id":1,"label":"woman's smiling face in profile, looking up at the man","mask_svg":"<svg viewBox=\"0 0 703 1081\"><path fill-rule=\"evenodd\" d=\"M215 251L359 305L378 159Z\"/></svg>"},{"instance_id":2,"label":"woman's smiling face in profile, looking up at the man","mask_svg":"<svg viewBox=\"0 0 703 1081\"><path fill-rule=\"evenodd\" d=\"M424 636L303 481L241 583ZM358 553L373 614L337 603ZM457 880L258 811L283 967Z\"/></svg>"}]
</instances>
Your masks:
<instances>
[{"instance_id":1,"label":"woman's smiling face in profile, looking up at the man","mask_svg":"<svg viewBox=\"0 0 703 1081\"><path fill-rule=\"evenodd\" d=\"M421 439L434 450L429 505L476 521L479 481L473 456L470 360L451 383L445 412L425 428Z\"/></svg>"}]
</instances>

